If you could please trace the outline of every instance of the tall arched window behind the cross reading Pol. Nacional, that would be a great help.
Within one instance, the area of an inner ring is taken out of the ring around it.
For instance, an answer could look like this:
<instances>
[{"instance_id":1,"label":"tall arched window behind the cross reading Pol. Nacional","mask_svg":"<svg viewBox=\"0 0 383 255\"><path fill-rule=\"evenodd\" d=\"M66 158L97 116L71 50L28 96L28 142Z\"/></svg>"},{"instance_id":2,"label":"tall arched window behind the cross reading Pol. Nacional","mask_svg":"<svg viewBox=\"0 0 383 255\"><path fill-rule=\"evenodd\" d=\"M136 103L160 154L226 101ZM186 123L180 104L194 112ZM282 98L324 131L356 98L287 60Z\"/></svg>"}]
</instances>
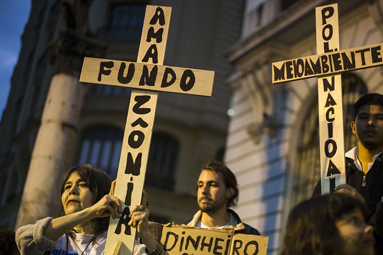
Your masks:
<instances>
[{"instance_id":1,"label":"tall arched window behind the cross reading Pol. Nacional","mask_svg":"<svg viewBox=\"0 0 383 255\"><path fill-rule=\"evenodd\" d=\"M367 88L360 77L354 73L342 74L343 90L343 121L345 136L345 152L357 146L357 139L351 130L354 103ZM321 179L320 152L319 152L319 120L318 97L313 100L311 110L306 114L300 127L300 141L298 142L297 155L298 167L294 172L290 206L293 207L300 201L311 197L315 185Z\"/></svg>"}]
</instances>

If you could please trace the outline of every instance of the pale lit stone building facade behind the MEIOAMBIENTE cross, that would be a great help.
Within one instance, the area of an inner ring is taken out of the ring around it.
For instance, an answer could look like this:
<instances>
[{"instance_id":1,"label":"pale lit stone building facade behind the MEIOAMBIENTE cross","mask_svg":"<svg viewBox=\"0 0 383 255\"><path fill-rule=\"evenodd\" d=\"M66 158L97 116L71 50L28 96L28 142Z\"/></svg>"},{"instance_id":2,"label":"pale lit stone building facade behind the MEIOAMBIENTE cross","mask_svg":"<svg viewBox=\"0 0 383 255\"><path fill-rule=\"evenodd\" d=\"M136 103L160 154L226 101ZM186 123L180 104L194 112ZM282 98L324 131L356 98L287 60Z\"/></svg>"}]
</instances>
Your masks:
<instances>
[{"instance_id":1,"label":"pale lit stone building facade behind the MEIOAMBIENTE cross","mask_svg":"<svg viewBox=\"0 0 383 255\"><path fill-rule=\"evenodd\" d=\"M316 54L315 7L338 3L341 49L383 40L380 0L247 0L240 39L227 51L235 66L225 162L240 185L238 213L280 251L290 209L320 179L317 78L272 84L272 62ZM345 151L357 146L352 106L383 93L382 67L342 74Z\"/></svg>"}]
</instances>

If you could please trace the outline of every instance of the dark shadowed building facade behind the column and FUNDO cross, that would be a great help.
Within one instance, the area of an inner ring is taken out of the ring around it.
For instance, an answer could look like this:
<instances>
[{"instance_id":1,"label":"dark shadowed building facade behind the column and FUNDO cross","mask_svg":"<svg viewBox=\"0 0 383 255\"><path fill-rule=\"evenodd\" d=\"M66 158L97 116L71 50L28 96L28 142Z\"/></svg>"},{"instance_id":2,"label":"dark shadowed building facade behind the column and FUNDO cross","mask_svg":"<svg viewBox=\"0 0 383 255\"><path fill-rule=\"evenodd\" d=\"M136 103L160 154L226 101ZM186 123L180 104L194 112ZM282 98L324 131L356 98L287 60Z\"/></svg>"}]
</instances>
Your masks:
<instances>
[{"instance_id":1,"label":"dark shadowed building facade behind the column and FUNDO cross","mask_svg":"<svg viewBox=\"0 0 383 255\"><path fill-rule=\"evenodd\" d=\"M94 0L88 24L106 43L105 58L136 61L147 4L172 7L164 65L215 71L212 97L158 97L145 190L151 220L183 223L197 208L200 168L223 159L232 95L226 77L233 71L224 52L239 38L244 1ZM17 217L52 78L48 45L59 36L60 9L60 0L32 0L21 38L0 127L0 228L13 228ZM71 163L97 165L115 178L131 90L95 84L85 90Z\"/></svg>"}]
</instances>

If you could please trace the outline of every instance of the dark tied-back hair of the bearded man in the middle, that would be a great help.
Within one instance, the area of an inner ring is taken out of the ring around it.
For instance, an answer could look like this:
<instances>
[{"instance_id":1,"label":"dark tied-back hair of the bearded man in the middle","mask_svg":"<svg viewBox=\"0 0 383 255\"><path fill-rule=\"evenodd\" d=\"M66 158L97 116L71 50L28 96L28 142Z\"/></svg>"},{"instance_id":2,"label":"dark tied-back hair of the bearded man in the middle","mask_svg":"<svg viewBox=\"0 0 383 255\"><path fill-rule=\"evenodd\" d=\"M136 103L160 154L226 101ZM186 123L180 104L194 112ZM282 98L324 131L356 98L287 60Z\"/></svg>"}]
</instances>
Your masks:
<instances>
[{"instance_id":1,"label":"dark tied-back hair of the bearded man in the middle","mask_svg":"<svg viewBox=\"0 0 383 255\"><path fill-rule=\"evenodd\" d=\"M233 196L228 200L227 207L234 207L237 205L238 197L239 197L239 190L238 190L238 183L237 178L235 178L234 173L226 167L223 163L219 161L211 161L203 166L202 171L208 170L216 172L217 174L221 175L223 182L225 183L226 189L233 188L234 194Z\"/></svg>"}]
</instances>

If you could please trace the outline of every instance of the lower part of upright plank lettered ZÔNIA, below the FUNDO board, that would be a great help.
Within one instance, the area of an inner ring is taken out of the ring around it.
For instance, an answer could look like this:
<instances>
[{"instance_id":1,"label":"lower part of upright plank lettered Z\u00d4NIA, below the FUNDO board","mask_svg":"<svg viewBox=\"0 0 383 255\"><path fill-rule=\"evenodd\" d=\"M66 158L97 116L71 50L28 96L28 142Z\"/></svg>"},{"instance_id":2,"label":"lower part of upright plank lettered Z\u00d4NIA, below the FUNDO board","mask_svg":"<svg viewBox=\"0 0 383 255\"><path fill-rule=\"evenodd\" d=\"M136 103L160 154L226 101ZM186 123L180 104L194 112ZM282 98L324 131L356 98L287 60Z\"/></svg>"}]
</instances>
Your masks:
<instances>
[{"instance_id":1,"label":"lower part of upright plank lettered Z\u00d4NIA, below the FUNDO board","mask_svg":"<svg viewBox=\"0 0 383 255\"><path fill-rule=\"evenodd\" d=\"M136 229L127 226L128 215L130 208L141 202L157 97L158 92L153 91L133 90L131 94L114 193L128 206L124 207L120 219L110 218L105 254L109 254L109 249L113 250L118 241L126 244L121 250L134 243Z\"/></svg>"}]
</instances>

